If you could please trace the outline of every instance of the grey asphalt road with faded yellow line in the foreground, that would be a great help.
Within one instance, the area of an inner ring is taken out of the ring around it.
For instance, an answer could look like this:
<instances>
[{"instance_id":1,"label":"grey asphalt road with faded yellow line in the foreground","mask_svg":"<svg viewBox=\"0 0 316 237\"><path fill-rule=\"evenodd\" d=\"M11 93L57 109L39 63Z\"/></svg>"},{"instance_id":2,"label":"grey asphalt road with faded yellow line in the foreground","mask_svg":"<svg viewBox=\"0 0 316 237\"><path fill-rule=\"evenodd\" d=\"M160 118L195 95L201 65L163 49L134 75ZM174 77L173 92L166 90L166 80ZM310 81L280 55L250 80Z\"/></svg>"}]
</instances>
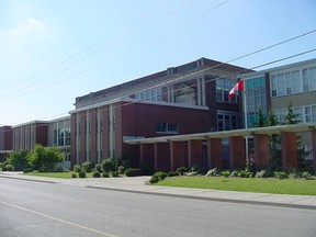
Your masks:
<instances>
[{"instance_id":1,"label":"grey asphalt road with faded yellow line in the foreground","mask_svg":"<svg viewBox=\"0 0 316 237\"><path fill-rule=\"evenodd\" d=\"M0 179L0 236L316 236L316 212Z\"/></svg>"}]
</instances>

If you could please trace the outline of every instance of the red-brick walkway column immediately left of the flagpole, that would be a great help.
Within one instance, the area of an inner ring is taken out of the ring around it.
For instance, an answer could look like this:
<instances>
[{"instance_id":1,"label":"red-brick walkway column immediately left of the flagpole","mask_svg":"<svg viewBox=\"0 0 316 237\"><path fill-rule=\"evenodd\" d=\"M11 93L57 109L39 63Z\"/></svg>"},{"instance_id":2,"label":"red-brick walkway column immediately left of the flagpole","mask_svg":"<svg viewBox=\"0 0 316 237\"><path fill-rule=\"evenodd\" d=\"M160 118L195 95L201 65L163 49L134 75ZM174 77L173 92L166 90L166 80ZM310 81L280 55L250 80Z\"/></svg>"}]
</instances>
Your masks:
<instances>
[{"instance_id":1,"label":"red-brick walkway column immediately left of the flagpole","mask_svg":"<svg viewBox=\"0 0 316 237\"><path fill-rule=\"evenodd\" d=\"M229 137L229 168L230 170L246 165L245 140L242 136Z\"/></svg>"}]
</instances>

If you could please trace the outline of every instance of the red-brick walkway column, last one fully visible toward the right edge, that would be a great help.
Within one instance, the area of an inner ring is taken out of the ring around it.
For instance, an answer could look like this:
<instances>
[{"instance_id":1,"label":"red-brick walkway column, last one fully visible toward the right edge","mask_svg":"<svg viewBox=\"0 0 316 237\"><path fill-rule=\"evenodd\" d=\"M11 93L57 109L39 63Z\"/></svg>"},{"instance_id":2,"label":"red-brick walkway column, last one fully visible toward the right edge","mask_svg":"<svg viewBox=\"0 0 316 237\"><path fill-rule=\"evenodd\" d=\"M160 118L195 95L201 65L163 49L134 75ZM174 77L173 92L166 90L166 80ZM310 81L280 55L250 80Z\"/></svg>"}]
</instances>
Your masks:
<instances>
[{"instance_id":1,"label":"red-brick walkway column, last one fully visible toward the right edge","mask_svg":"<svg viewBox=\"0 0 316 237\"><path fill-rule=\"evenodd\" d=\"M282 142L282 167L289 169L297 168L297 144L296 133L281 133Z\"/></svg>"}]
</instances>

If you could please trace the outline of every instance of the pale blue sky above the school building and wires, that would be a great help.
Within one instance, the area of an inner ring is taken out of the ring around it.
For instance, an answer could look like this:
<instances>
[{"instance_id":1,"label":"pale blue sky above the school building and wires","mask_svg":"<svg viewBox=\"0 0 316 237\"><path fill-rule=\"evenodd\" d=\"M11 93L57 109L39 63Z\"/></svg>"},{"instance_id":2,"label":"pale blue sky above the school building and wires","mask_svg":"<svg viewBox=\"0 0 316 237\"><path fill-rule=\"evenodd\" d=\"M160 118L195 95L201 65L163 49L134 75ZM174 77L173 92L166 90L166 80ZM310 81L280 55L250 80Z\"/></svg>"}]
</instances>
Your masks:
<instances>
[{"instance_id":1,"label":"pale blue sky above the school building and wires","mask_svg":"<svg viewBox=\"0 0 316 237\"><path fill-rule=\"evenodd\" d=\"M0 126L65 116L77 97L313 32L315 11L314 0L0 0ZM315 48L313 32L230 64L255 68Z\"/></svg>"}]
</instances>

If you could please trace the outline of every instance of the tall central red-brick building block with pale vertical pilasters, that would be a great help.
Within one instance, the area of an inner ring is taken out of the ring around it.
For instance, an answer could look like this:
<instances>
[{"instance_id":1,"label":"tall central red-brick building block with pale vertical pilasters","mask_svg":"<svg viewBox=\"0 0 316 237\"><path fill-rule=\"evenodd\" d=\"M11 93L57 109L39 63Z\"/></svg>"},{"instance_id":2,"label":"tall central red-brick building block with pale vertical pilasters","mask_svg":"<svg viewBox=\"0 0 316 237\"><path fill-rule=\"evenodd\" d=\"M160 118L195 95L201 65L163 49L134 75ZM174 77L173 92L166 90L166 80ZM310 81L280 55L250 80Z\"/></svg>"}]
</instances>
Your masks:
<instances>
[{"instance_id":1,"label":"tall central red-brick building block with pale vertical pilasters","mask_svg":"<svg viewBox=\"0 0 316 237\"><path fill-rule=\"evenodd\" d=\"M245 71L201 58L77 98L71 163L125 155L139 161L126 139L240 128L239 99L228 93Z\"/></svg>"}]
</instances>

